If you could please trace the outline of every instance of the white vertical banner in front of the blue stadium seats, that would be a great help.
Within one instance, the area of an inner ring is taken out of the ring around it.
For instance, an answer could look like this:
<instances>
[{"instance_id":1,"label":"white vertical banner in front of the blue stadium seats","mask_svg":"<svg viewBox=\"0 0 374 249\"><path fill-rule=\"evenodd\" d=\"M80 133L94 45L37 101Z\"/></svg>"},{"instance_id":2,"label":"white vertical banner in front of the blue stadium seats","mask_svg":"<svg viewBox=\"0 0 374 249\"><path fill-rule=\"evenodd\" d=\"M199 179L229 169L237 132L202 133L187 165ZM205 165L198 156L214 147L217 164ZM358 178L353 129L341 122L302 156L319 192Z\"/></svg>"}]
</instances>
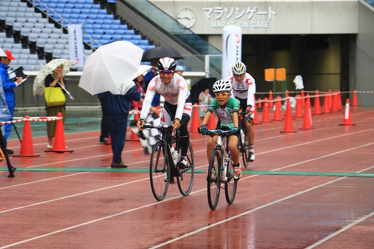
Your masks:
<instances>
[{"instance_id":1,"label":"white vertical banner in front of the blue stadium seats","mask_svg":"<svg viewBox=\"0 0 374 249\"><path fill-rule=\"evenodd\" d=\"M83 33L81 24L69 24L69 50L70 59L74 61L74 66L85 65L85 54L83 52Z\"/></svg>"}]
</instances>

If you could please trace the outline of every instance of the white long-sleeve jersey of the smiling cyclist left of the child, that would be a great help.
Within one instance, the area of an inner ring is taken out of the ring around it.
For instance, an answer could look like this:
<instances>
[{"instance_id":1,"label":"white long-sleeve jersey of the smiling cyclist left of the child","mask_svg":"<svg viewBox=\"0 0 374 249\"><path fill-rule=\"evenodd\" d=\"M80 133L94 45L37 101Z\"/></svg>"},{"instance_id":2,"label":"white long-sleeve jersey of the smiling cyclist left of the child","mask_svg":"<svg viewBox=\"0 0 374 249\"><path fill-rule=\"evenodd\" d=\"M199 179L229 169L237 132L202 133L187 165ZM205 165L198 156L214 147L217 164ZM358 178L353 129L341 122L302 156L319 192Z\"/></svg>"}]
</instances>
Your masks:
<instances>
[{"instance_id":1,"label":"white long-sleeve jersey of the smiling cyclist left of the child","mask_svg":"<svg viewBox=\"0 0 374 249\"><path fill-rule=\"evenodd\" d=\"M160 94L165 101L172 105L177 105L177 112L174 118L182 119L185 100L190 96L187 81L179 74L174 74L172 81L165 85L160 75L155 76L148 85L146 97L141 108L140 119L147 119L151 109L151 103L156 92Z\"/></svg>"}]
</instances>

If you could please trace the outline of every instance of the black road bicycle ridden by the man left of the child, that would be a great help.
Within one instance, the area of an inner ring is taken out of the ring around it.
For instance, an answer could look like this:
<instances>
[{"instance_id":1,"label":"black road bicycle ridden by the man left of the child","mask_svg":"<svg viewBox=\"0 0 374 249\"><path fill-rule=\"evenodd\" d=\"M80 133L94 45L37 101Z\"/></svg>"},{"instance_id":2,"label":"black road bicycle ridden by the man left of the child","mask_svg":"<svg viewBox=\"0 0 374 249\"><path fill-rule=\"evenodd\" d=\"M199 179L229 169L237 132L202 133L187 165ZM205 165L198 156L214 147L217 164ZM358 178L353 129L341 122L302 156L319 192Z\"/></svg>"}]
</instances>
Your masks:
<instances>
[{"instance_id":1,"label":"black road bicycle ridden by the man left of the child","mask_svg":"<svg viewBox=\"0 0 374 249\"><path fill-rule=\"evenodd\" d=\"M165 198L169 183L175 183L177 178L178 188L183 196L188 196L192 189L195 175L194 152L191 142L189 142L187 150L187 165L178 162L174 164L171 153L171 140L176 140L175 151L180 155L180 138L179 131L175 130L175 135L170 134L172 126L152 126L144 124L143 129L157 129L161 134L161 139L153 146L150 162L150 180L153 196L156 200L161 201ZM145 140L142 132L139 132L142 139Z\"/></svg>"}]
</instances>

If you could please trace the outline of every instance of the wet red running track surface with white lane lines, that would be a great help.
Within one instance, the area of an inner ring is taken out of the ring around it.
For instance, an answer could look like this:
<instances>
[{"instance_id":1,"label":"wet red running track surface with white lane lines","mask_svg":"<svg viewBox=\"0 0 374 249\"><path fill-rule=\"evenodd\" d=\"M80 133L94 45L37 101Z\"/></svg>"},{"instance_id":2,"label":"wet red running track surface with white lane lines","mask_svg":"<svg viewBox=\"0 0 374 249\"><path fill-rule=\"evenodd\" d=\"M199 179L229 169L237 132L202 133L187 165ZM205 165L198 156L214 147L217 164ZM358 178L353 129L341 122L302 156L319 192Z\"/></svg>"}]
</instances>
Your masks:
<instances>
[{"instance_id":1,"label":"wet red running track surface with white lane lines","mask_svg":"<svg viewBox=\"0 0 374 249\"><path fill-rule=\"evenodd\" d=\"M315 130L280 133L284 121L255 126L251 170L374 173L374 108L352 109L356 126L339 126L343 111L312 117ZM273 112L271 111L271 117ZM284 113L282 113L282 116ZM259 120L261 120L261 113ZM35 158L11 158L16 168L108 168L110 146L99 131L65 134L73 153L45 153L47 137L33 138ZM196 169L207 169L206 137L190 133ZM130 138L130 133L128 133ZM8 147L19 153L19 142ZM150 155L127 141L122 159L148 169ZM2 162L0 167L5 168ZM234 204L224 192L207 204L205 174L192 193L171 185L157 202L149 174L140 172L0 172L0 248L373 248L374 178L248 175Z\"/></svg>"}]
</instances>

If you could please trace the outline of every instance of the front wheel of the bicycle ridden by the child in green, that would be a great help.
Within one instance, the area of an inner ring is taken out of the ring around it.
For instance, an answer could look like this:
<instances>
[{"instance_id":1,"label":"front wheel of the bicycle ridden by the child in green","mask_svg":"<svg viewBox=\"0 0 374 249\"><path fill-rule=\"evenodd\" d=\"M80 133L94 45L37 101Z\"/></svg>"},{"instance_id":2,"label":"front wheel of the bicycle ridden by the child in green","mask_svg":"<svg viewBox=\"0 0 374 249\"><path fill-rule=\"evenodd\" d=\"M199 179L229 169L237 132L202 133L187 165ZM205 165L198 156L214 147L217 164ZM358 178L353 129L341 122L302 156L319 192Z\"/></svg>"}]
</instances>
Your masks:
<instances>
[{"instance_id":1,"label":"front wheel of the bicycle ridden by the child in green","mask_svg":"<svg viewBox=\"0 0 374 249\"><path fill-rule=\"evenodd\" d=\"M211 210L217 208L219 192L221 191L221 156L214 150L209 161L207 180L208 203Z\"/></svg>"}]
</instances>

